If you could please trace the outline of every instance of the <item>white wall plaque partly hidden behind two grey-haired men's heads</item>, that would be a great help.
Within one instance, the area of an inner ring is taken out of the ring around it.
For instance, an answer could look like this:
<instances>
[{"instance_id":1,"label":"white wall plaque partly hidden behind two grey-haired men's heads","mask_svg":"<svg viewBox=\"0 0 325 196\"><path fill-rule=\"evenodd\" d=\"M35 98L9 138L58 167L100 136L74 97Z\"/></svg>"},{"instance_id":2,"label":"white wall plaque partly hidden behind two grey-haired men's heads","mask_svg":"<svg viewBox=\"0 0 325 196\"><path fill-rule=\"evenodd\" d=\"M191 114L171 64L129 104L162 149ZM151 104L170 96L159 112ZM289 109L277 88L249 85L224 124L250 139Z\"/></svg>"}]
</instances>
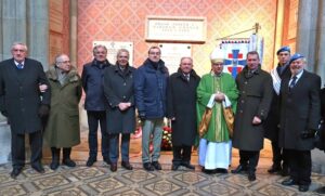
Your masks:
<instances>
[{"instance_id":1,"label":"white wall plaque partly hidden behind two grey-haired men's heads","mask_svg":"<svg viewBox=\"0 0 325 196\"><path fill-rule=\"evenodd\" d=\"M92 45L102 44L107 48L107 60L109 63L116 63L116 54L119 49L126 49L129 51L130 58L129 65L133 66L133 42L126 42L126 41L93 41Z\"/></svg>"}]
</instances>

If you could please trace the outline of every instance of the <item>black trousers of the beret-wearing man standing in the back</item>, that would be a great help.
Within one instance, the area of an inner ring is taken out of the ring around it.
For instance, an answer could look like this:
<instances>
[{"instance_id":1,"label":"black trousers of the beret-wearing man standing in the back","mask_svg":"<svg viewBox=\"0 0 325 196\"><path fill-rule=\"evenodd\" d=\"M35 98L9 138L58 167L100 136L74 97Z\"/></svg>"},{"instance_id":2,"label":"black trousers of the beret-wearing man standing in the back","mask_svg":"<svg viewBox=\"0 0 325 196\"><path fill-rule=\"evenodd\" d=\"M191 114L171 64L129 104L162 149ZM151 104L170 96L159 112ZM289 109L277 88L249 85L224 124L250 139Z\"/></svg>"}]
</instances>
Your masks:
<instances>
[{"instance_id":1,"label":"black trousers of the beret-wearing man standing in the back","mask_svg":"<svg viewBox=\"0 0 325 196\"><path fill-rule=\"evenodd\" d=\"M278 147L278 141L272 141L272 153L273 153L273 166L275 167L288 167L288 157L284 148Z\"/></svg>"}]
</instances>

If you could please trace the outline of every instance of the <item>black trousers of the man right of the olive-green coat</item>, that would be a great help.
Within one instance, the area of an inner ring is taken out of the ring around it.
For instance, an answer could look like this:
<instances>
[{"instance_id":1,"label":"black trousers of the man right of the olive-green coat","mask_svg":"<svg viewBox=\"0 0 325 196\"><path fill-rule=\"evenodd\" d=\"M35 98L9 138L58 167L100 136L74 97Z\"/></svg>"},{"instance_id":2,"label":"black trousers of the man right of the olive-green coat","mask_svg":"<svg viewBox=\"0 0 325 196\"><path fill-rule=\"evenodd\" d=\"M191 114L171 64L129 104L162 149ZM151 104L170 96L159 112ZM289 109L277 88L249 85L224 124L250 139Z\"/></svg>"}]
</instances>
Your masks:
<instances>
[{"instance_id":1,"label":"black trousers of the man right of the olive-green coat","mask_svg":"<svg viewBox=\"0 0 325 196\"><path fill-rule=\"evenodd\" d=\"M102 156L104 159L109 159L109 138L106 130L106 112L105 110L87 110L88 116L88 144L89 144L89 156L92 158L98 157L98 130L99 125L101 126L102 132Z\"/></svg>"}]
</instances>

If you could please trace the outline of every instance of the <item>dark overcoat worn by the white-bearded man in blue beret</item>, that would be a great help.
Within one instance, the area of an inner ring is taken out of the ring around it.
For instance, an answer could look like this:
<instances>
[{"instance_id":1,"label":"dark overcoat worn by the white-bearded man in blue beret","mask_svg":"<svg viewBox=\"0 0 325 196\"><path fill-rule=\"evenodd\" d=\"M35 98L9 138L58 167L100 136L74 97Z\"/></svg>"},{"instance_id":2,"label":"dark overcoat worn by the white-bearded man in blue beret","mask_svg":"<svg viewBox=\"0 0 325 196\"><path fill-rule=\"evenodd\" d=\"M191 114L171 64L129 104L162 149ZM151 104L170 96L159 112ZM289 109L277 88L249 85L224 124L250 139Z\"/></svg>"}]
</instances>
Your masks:
<instances>
[{"instance_id":1,"label":"dark overcoat worn by the white-bearded man in blue beret","mask_svg":"<svg viewBox=\"0 0 325 196\"><path fill-rule=\"evenodd\" d=\"M281 129L278 145L287 149L309 151L313 139L301 139L307 130L316 130L321 120L321 77L303 70L289 91L289 80L281 84Z\"/></svg>"}]
</instances>

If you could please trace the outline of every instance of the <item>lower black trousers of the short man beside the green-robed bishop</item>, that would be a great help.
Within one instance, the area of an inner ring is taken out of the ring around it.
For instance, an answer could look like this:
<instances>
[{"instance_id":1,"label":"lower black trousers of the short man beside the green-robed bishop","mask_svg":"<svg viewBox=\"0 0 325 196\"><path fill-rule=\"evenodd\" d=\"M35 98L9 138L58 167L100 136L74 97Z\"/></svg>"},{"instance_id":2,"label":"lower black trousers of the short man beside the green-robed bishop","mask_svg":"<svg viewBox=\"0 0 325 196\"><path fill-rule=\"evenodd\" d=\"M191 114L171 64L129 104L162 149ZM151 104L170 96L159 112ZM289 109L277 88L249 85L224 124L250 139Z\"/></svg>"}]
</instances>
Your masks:
<instances>
[{"instance_id":1,"label":"lower black trousers of the short man beside the green-robed bishop","mask_svg":"<svg viewBox=\"0 0 325 196\"><path fill-rule=\"evenodd\" d=\"M192 146L181 145L172 146L172 164L190 164L192 154Z\"/></svg>"}]
</instances>

